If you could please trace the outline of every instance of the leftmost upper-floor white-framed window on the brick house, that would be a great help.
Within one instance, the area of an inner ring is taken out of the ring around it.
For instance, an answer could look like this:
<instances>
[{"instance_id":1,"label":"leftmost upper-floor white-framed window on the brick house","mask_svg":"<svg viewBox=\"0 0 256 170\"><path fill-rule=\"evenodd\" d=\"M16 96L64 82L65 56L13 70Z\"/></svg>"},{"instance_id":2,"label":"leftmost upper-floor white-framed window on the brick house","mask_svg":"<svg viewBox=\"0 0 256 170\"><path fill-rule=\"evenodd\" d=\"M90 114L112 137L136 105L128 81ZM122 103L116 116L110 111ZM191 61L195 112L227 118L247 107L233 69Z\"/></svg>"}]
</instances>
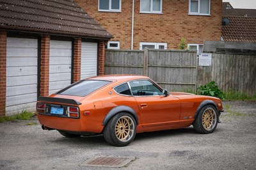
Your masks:
<instances>
[{"instance_id":1,"label":"leftmost upper-floor white-framed window on the brick house","mask_svg":"<svg viewBox=\"0 0 256 170\"><path fill-rule=\"evenodd\" d=\"M99 11L121 12L122 0L99 0Z\"/></svg>"}]
</instances>

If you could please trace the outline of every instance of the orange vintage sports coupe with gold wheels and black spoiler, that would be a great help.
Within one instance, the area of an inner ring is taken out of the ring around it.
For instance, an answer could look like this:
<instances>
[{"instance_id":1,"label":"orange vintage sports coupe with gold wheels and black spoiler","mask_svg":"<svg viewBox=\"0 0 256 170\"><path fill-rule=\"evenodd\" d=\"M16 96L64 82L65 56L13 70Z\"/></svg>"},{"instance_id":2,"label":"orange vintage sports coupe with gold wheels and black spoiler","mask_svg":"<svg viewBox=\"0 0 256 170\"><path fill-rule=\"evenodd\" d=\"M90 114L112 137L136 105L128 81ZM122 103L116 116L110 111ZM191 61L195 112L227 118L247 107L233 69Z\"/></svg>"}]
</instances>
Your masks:
<instances>
[{"instance_id":1,"label":"orange vintage sports coupe with gold wheels and black spoiler","mask_svg":"<svg viewBox=\"0 0 256 170\"><path fill-rule=\"evenodd\" d=\"M209 134L223 107L219 98L169 93L145 76L104 75L39 97L36 111L44 130L66 137L103 134L109 144L126 146L141 132L193 125Z\"/></svg>"}]
</instances>

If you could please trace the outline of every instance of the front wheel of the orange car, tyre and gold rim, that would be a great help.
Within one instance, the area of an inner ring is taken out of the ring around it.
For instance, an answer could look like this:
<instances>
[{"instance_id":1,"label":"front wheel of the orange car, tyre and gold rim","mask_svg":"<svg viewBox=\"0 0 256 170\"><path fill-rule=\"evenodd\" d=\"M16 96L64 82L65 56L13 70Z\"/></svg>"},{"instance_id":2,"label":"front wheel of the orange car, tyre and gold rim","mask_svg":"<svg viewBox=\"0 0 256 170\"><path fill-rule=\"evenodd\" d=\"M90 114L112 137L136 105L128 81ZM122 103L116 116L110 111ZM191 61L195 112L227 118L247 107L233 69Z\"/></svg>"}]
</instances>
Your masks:
<instances>
[{"instance_id":1,"label":"front wheel of the orange car, tyre and gold rim","mask_svg":"<svg viewBox=\"0 0 256 170\"><path fill-rule=\"evenodd\" d=\"M217 110L213 105L205 105L197 114L193 127L200 134L212 133L218 125Z\"/></svg>"}]
</instances>

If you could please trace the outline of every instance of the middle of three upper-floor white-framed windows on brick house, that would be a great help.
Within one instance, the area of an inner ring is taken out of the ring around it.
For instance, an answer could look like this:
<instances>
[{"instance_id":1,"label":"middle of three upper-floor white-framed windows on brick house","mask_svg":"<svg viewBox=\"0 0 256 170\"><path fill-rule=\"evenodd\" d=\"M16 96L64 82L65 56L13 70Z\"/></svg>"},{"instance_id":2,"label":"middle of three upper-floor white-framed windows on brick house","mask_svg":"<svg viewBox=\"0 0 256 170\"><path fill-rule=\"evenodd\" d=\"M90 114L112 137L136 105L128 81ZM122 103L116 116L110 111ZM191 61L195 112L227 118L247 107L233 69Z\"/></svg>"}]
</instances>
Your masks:
<instances>
[{"instance_id":1,"label":"middle of three upper-floor white-framed windows on brick house","mask_svg":"<svg viewBox=\"0 0 256 170\"><path fill-rule=\"evenodd\" d=\"M162 13L162 0L140 0L141 13Z\"/></svg>"}]
</instances>

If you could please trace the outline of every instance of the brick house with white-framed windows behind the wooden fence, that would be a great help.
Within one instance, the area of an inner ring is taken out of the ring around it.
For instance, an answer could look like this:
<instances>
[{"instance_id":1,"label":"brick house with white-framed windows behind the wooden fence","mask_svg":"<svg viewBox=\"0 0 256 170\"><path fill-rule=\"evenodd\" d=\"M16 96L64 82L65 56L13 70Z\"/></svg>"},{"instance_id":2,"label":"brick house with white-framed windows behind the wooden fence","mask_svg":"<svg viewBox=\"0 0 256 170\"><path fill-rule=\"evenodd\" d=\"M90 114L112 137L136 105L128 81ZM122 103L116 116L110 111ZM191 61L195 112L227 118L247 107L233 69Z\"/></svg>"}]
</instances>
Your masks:
<instances>
[{"instance_id":1,"label":"brick house with white-framed windows behind the wooden fence","mask_svg":"<svg viewBox=\"0 0 256 170\"><path fill-rule=\"evenodd\" d=\"M181 38L202 51L221 38L221 0L75 0L113 33L108 49L177 49Z\"/></svg>"}]
</instances>

